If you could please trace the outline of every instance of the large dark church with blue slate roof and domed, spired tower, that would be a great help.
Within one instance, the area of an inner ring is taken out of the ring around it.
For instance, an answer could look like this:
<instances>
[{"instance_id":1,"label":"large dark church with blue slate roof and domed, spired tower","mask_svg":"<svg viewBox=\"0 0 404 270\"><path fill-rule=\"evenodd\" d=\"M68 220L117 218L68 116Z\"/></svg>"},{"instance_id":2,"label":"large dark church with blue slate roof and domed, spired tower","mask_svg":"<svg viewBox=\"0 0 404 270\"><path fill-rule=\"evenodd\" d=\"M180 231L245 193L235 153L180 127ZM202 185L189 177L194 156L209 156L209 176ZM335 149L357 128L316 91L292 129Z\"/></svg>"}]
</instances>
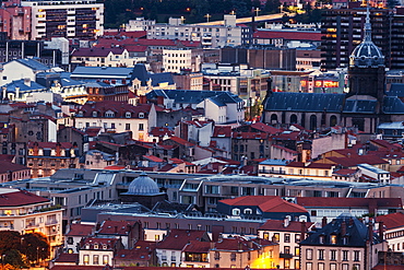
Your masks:
<instances>
[{"instance_id":1,"label":"large dark church with blue slate roof and domed, spired tower","mask_svg":"<svg viewBox=\"0 0 404 270\"><path fill-rule=\"evenodd\" d=\"M356 127L375 133L381 122L404 120L404 92L385 92L384 56L371 39L369 8L364 39L349 56L347 94L272 92L263 102L262 121L298 124L306 129Z\"/></svg>"}]
</instances>

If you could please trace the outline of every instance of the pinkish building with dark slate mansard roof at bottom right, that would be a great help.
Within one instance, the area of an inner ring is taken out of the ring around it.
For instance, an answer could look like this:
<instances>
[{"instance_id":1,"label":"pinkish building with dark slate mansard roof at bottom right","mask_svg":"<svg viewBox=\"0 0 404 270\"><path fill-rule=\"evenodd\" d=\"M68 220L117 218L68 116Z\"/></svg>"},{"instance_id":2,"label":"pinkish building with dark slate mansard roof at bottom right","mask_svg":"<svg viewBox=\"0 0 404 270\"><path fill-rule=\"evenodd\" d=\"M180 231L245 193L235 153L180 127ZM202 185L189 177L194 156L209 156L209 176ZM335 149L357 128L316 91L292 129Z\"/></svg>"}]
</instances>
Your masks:
<instances>
[{"instance_id":1,"label":"pinkish building with dark slate mansard roof at bottom right","mask_svg":"<svg viewBox=\"0 0 404 270\"><path fill-rule=\"evenodd\" d=\"M378 262L378 251L387 251L373 224L341 215L300 243L300 269L366 270Z\"/></svg>"}]
</instances>

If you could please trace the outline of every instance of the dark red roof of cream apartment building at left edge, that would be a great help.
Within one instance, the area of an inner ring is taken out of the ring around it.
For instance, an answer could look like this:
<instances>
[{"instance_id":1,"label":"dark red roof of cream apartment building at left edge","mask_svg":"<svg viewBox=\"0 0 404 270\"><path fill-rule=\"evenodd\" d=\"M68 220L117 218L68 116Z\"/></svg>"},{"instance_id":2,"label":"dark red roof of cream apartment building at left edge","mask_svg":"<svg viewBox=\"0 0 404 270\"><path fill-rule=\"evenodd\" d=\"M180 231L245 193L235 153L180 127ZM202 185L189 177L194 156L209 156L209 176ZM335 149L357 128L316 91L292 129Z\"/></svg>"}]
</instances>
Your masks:
<instances>
[{"instance_id":1,"label":"dark red roof of cream apartment building at left edge","mask_svg":"<svg viewBox=\"0 0 404 270\"><path fill-rule=\"evenodd\" d=\"M5 188L0 189L0 207L21 207L50 202L50 200L28 191L17 190L8 192L9 190Z\"/></svg>"}]
</instances>

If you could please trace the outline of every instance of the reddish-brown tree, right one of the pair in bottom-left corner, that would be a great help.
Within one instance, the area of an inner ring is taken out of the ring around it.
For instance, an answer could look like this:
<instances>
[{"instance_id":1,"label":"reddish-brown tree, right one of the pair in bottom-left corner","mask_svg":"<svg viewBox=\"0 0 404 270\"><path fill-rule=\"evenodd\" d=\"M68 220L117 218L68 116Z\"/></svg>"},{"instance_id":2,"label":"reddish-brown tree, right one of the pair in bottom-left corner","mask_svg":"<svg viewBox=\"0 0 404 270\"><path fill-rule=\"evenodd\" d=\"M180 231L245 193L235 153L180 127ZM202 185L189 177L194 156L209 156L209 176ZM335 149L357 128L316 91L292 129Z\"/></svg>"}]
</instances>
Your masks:
<instances>
[{"instance_id":1,"label":"reddish-brown tree, right one of the pair in bottom-left corner","mask_svg":"<svg viewBox=\"0 0 404 270\"><path fill-rule=\"evenodd\" d=\"M40 233L24 234L23 250L28 261L38 262L49 256L49 244Z\"/></svg>"}]
</instances>

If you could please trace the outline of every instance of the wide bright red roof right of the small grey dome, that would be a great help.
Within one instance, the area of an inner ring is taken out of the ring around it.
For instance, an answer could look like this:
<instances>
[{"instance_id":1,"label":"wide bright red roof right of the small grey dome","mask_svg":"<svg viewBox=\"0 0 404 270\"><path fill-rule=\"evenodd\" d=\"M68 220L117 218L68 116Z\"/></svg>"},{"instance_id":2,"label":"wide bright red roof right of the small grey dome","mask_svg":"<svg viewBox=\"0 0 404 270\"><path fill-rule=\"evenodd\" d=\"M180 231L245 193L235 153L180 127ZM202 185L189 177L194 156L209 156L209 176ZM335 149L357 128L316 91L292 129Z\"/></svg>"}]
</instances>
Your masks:
<instances>
[{"instance_id":1,"label":"wide bright red roof right of the small grey dome","mask_svg":"<svg viewBox=\"0 0 404 270\"><path fill-rule=\"evenodd\" d=\"M307 213L307 210L299 204L288 202L278 196L245 196L235 199L219 200L228 206L257 206L263 212L280 213L294 212Z\"/></svg>"}]
</instances>

